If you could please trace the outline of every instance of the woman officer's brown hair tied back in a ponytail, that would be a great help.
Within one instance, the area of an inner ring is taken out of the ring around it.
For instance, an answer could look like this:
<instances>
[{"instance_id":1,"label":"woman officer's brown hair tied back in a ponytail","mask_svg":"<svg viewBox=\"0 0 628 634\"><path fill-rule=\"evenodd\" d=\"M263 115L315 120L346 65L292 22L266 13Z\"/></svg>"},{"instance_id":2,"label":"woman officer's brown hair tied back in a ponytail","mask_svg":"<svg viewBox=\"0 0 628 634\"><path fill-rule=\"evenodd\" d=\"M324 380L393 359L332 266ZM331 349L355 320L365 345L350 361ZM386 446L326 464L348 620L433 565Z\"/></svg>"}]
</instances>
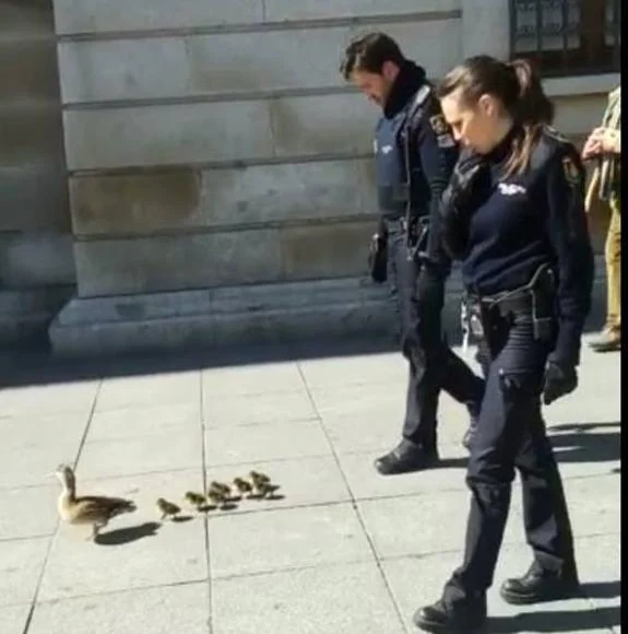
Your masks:
<instances>
[{"instance_id":1,"label":"woman officer's brown hair tied back in a ponytail","mask_svg":"<svg viewBox=\"0 0 628 634\"><path fill-rule=\"evenodd\" d=\"M554 104L543 92L541 78L530 63L524 59L502 62L487 55L470 57L447 73L437 95L442 98L457 89L461 89L462 98L471 105L484 94L501 102L522 130L513 139L506 175L525 171L543 127L554 120Z\"/></svg>"}]
</instances>

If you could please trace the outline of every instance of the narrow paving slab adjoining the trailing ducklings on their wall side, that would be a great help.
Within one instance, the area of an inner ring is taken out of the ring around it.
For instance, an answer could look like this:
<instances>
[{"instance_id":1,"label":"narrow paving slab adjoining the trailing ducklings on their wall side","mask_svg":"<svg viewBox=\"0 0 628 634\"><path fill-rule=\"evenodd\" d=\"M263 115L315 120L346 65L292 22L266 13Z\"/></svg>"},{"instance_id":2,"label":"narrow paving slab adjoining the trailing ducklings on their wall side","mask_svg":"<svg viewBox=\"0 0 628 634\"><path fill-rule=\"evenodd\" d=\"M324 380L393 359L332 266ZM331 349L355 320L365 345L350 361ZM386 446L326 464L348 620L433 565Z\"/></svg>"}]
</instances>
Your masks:
<instances>
[{"instance_id":1,"label":"narrow paving slab adjoining the trailing ducklings on their wall side","mask_svg":"<svg viewBox=\"0 0 628 634\"><path fill-rule=\"evenodd\" d=\"M329 456L331 447L319 422L283 422L205 432L208 465L244 465Z\"/></svg>"}]
</instances>

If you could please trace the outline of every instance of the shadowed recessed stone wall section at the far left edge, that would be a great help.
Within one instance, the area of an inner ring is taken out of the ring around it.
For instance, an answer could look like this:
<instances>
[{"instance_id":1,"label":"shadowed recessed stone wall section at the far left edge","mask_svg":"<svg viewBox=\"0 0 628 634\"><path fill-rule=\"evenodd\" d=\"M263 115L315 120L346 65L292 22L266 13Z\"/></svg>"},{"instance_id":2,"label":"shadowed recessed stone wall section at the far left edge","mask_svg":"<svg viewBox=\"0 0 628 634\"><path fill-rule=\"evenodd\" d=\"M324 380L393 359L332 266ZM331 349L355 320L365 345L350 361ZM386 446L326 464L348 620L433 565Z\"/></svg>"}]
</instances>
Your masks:
<instances>
[{"instance_id":1,"label":"shadowed recessed stone wall section at the far left edge","mask_svg":"<svg viewBox=\"0 0 628 634\"><path fill-rule=\"evenodd\" d=\"M0 345L45 337L74 283L50 1L0 2Z\"/></svg>"}]
</instances>

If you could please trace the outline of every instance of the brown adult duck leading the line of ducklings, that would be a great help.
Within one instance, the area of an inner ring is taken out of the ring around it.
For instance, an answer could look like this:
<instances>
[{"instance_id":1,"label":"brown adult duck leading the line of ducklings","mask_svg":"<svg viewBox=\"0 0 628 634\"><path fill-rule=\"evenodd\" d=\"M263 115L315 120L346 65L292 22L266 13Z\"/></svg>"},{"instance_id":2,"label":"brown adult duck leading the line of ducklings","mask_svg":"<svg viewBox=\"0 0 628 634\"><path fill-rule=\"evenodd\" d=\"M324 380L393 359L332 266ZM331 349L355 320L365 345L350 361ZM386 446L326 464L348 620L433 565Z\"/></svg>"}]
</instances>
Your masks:
<instances>
[{"instance_id":1,"label":"brown adult duck leading the line of ducklings","mask_svg":"<svg viewBox=\"0 0 628 634\"><path fill-rule=\"evenodd\" d=\"M68 465L59 465L55 474L63 486L57 502L59 517L71 525L92 525L92 535L88 539L94 539L112 517L137 509L134 502L122 497L103 495L76 497L76 477Z\"/></svg>"}]
</instances>

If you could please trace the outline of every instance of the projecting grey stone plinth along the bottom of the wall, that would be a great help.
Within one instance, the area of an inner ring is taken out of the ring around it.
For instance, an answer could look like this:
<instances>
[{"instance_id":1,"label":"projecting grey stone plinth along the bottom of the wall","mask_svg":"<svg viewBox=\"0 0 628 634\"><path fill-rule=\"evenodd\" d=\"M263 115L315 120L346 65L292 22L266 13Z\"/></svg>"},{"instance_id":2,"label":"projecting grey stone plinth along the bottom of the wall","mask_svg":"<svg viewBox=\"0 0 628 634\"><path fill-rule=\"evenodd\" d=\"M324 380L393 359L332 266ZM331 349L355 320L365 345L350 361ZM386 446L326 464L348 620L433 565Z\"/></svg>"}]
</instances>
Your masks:
<instances>
[{"instance_id":1,"label":"projecting grey stone plinth along the bottom of the wall","mask_svg":"<svg viewBox=\"0 0 628 634\"><path fill-rule=\"evenodd\" d=\"M364 279L72 298L49 329L60 355L388 337L386 285Z\"/></svg>"}]
</instances>

